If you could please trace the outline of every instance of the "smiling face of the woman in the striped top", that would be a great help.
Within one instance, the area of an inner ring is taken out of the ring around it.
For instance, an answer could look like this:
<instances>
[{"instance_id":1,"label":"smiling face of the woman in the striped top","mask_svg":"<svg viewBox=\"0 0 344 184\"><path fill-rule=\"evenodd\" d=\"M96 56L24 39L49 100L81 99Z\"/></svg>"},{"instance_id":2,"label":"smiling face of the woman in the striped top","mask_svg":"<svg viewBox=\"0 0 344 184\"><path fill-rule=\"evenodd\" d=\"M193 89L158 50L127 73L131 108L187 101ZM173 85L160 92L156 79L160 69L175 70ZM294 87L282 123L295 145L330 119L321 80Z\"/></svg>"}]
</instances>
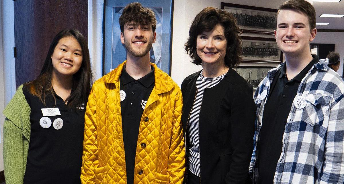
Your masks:
<instances>
[{"instance_id":1,"label":"smiling face of the woman in the striped top","mask_svg":"<svg viewBox=\"0 0 344 184\"><path fill-rule=\"evenodd\" d=\"M217 24L212 31L202 32L197 36L197 55L202 59L202 65L225 62L227 40L224 29Z\"/></svg>"}]
</instances>

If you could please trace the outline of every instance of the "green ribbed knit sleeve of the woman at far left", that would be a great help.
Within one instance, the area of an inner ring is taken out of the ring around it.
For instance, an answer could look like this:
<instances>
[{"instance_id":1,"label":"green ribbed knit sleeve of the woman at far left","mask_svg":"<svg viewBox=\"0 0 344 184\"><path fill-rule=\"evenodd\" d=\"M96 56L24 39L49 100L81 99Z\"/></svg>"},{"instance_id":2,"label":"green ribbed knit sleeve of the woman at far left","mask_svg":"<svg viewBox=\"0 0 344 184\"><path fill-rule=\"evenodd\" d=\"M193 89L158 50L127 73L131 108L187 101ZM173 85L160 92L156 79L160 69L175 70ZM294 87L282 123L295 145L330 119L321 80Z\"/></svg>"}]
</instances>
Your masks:
<instances>
[{"instance_id":1,"label":"green ribbed knit sleeve of the woman at far left","mask_svg":"<svg viewBox=\"0 0 344 184\"><path fill-rule=\"evenodd\" d=\"M3 125L3 160L7 184L21 184L24 180L31 133L30 113L21 85L3 111L6 117Z\"/></svg>"}]
</instances>

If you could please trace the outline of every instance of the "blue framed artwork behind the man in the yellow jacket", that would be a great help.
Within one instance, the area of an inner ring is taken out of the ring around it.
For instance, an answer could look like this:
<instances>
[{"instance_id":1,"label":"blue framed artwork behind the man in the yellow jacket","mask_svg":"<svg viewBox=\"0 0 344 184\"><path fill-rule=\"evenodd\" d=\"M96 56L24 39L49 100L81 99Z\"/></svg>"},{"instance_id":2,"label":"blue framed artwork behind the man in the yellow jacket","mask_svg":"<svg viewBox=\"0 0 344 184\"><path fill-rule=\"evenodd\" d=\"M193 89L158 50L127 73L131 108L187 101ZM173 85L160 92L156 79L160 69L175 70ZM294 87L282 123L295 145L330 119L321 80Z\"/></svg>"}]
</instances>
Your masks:
<instances>
[{"instance_id":1,"label":"blue framed artwork behind the man in the yellow jacket","mask_svg":"<svg viewBox=\"0 0 344 184\"><path fill-rule=\"evenodd\" d=\"M117 68L126 60L126 49L120 41L119 16L131 2L140 2L155 13L157 39L150 50L151 62L171 75L173 0L105 0L104 3L104 45L103 75Z\"/></svg>"}]
</instances>

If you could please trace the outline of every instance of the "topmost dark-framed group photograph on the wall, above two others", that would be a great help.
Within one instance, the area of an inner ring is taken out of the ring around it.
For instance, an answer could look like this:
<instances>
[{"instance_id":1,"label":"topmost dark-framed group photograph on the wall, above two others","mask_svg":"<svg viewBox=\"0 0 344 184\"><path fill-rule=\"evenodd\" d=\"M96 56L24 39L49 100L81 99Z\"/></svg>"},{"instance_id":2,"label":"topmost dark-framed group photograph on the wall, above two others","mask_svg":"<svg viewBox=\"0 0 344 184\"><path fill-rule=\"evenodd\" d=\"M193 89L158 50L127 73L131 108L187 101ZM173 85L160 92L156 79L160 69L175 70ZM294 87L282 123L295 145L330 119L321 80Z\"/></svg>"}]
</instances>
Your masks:
<instances>
[{"instance_id":1,"label":"topmost dark-framed group photograph on the wall, above two others","mask_svg":"<svg viewBox=\"0 0 344 184\"><path fill-rule=\"evenodd\" d=\"M221 2L221 9L232 13L244 33L274 34L277 9Z\"/></svg>"}]
</instances>

